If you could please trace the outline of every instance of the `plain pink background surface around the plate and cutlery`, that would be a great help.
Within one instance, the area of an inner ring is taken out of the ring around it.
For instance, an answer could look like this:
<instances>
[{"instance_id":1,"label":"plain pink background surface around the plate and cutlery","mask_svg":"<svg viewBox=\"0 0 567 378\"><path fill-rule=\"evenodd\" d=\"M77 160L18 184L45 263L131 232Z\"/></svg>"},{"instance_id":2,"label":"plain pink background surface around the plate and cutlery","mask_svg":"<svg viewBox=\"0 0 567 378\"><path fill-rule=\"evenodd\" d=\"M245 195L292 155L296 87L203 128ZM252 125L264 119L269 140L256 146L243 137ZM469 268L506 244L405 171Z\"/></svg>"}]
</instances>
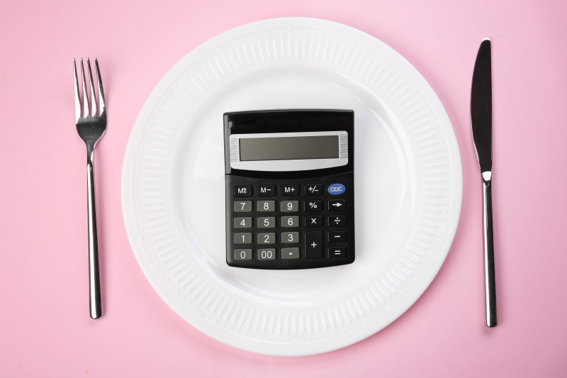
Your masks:
<instances>
[{"instance_id":1,"label":"plain pink background surface around the plate and cutlery","mask_svg":"<svg viewBox=\"0 0 567 378\"><path fill-rule=\"evenodd\" d=\"M2 1L0 375L3 377L566 377L565 1ZM312 357L211 340L171 311L130 250L120 174L135 117L191 49L262 18L346 23L404 55L459 140L464 201L444 266L374 336ZM90 18L90 21L89 21ZM469 125L476 51L493 39L500 325L483 326L481 178ZM105 315L88 315L84 145L72 57L99 57L107 133L96 151Z\"/></svg>"}]
</instances>

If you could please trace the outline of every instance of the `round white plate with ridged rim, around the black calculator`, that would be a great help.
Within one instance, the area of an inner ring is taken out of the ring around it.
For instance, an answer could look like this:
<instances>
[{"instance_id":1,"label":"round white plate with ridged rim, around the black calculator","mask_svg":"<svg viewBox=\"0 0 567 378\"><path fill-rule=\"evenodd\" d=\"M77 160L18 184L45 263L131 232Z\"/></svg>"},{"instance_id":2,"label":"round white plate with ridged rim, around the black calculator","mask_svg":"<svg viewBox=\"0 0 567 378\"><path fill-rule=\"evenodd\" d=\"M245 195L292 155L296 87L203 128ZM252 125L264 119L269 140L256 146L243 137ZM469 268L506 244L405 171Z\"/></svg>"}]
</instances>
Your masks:
<instances>
[{"instance_id":1,"label":"round white plate with ridged rim, around the black calculator","mask_svg":"<svg viewBox=\"0 0 567 378\"><path fill-rule=\"evenodd\" d=\"M292 271L225 262L223 113L353 109L356 260ZM442 104L397 52L310 18L250 23L178 62L137 118L122 201L140 267L192 326L236 348L312 355L388 326L441 267L461 210Z\"/></svg>"}]
</instances>

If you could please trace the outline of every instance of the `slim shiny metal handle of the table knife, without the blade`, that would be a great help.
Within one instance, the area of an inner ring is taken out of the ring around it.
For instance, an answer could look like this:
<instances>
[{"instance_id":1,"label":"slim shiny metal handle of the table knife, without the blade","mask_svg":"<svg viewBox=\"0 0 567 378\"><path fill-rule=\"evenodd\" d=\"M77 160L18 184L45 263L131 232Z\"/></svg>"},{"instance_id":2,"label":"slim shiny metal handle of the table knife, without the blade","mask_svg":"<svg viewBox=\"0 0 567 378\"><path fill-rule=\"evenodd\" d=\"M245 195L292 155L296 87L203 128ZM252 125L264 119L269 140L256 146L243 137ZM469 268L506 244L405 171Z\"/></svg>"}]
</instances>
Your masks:
<instances>
[{"instance_id":1,"label":"slim shiny metal handle of the table knife, without the blade","mask_svg":"<svg viewBox=\"0 0 567 378\"><path fill-rule=\"evenodd\" d=\"M485 324L496 326L496 279L492 226L492 172L483 172L484 301Z\"/></svg>"}]
</instances>

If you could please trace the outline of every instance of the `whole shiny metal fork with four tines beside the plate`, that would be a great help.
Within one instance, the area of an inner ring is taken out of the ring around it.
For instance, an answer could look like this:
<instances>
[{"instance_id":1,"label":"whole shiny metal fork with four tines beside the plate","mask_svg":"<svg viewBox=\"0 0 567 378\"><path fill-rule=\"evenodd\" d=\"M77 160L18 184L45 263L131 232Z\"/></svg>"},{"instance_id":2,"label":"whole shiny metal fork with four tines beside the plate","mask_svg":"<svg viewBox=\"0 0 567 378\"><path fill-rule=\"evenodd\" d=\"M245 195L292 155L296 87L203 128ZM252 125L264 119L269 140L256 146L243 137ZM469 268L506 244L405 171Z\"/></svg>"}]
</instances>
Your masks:
<instances>
[{"instance_id":1,"label":"whole shiny metal fork with four tines beside the plate","mask_svg":"<svg viewBox=\"0 0 567 378\"><path fill-rule=\"evenodd\" d=\"M81 58L82 96L79 94L79 80L77 79L77 65L73 59L74 87L75 87L75 123L77 132L86 145L86 183L87 183L87 209L89 216L89 305L91 318L102 316L101 277L99 272L99 235L96 227L96 204L94 200L94 146L104 130L106 130L106 105L102 88L99 61L94 58L96 77L99 82L99 106L96 105L94 93L93 74L91 62L86 58L86 67L89 69L91 101L86 89L83 58ZM97 111L98 109L98 111Z\"/></svg>"}]
</instances>

